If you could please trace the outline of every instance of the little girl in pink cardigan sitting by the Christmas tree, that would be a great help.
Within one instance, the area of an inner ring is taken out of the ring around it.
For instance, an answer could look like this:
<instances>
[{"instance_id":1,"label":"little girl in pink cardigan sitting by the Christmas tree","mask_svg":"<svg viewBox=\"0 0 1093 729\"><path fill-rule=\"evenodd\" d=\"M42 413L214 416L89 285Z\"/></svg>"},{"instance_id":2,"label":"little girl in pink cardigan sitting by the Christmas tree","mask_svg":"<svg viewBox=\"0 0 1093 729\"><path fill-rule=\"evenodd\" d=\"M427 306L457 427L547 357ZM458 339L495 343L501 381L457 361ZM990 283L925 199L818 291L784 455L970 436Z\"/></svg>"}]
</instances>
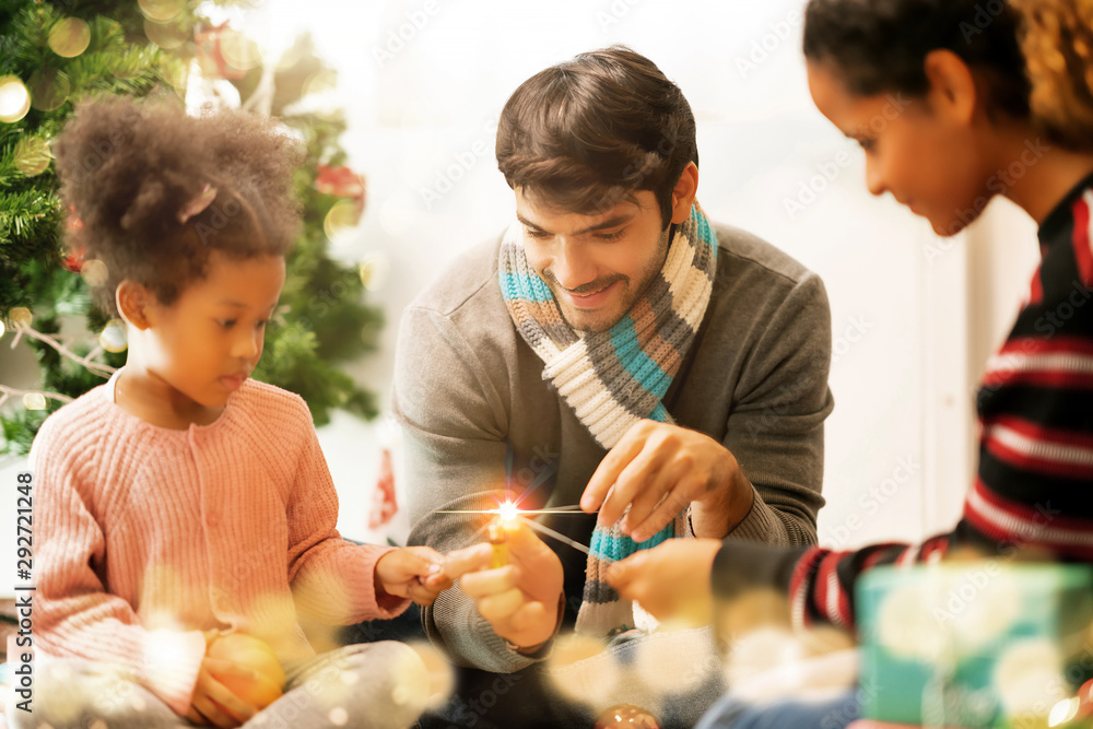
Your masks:
<instances>
[{"instance_id":1,"label":"little girl in pink cardigan sitting by the Christmas tree","mask_svg":"<svg viewBox=\"0 0 1093 729\"><path fill-rule=\"evenodd\" d=\"M298 619L428 604L450 584L439 555L341 539L307 407L249 379L297 233L296 145L245 114L113 99L81 107L55 152L70 244L105 268L95 293L129 351L31 452L34 713L9 718L412 724L428 693L412 649L316 657Z\"/></svg>"}]
</instances>

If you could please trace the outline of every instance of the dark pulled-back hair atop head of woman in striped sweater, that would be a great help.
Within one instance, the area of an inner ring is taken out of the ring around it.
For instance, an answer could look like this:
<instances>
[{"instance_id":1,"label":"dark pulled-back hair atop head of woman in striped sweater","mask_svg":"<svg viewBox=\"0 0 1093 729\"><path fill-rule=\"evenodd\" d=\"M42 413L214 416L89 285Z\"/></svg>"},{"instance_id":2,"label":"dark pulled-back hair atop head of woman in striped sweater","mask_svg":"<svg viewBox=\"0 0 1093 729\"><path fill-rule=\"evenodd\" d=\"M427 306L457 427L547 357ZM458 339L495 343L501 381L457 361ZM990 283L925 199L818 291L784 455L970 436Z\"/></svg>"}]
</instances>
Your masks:
<instances>
[{"instance_id":1,"label":"dark pulled-back hair atop head of woman in striped sweater","mask_svg":"<svg viewBox=\"0 0 1093 729\"><path fill-rule=\"evenodd\" d=\"M951 50L986 82L989 111L1027 119L1020 24L1008 0L810 0L804 57L834 69L850 93L921 97L926 56Z\"/></svg>"}]
</instances>

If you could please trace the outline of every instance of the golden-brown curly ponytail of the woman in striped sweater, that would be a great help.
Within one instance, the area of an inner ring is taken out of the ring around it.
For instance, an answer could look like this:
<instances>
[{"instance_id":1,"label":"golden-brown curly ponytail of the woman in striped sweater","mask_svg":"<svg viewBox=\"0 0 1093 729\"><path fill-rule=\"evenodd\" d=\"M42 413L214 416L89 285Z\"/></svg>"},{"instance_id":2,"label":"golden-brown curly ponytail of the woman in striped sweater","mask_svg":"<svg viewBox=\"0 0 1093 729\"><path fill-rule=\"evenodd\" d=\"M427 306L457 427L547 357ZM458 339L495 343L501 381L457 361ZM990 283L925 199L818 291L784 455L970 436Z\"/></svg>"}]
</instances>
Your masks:
<instances>
[{"instance_id":1,"label":"golden-brown curly ponytail of the woman in striped sweater","mask_svg":"<svg viewBox=\"0 0 1093 729\"><path fill-rule=\"evenodd\" d=\"M1011 2L1024 21L1033 120L1061 146L1093 151L1093 0Z\"/></svg>"}]
</instances>

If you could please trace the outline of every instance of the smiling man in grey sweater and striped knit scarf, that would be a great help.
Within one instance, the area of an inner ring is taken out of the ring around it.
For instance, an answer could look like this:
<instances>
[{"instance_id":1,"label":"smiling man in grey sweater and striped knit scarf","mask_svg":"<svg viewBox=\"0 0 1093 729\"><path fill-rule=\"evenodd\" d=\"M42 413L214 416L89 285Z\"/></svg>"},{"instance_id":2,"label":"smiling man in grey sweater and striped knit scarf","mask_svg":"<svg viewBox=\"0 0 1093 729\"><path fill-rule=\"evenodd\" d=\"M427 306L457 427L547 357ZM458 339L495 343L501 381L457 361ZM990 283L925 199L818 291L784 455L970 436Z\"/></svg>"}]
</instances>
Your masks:
<instances>
[{"instance_id":1,"label":"smiling man in grey sweater and striped knit scarf","mask_svg":"<svg viewBox=\"0 0 1093 729\"><path fill-rule=\"evenodd\" d=\"M587 585L583 553L522 529L508 566L463 575L424 614L468 669L449 722L562 726L572 715L552 714L534 668L554 636L635 625L599 579L604 545L625 556L681 532L815 542L831 321L816 275L710 226L691 108L638 54L583 54L529 79L496 149L517 223L409 307L393 404L410 543L484 541L487 517L456 512L506 501L599 512L595 536L590 515L540 519L595 537ZM489 562L474 548L451 569ZM494 674L514 672L502 691Z\"/></svg>"}]
</instances>

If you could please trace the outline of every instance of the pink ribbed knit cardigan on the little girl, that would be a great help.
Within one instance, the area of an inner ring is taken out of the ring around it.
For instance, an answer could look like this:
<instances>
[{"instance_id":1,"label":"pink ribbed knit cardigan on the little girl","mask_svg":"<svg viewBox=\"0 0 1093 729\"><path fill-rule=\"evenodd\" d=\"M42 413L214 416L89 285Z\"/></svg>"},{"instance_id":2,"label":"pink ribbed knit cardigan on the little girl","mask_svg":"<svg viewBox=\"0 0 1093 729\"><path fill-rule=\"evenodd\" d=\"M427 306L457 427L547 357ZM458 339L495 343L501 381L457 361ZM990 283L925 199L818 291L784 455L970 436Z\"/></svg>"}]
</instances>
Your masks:
<instances>
[{"instance_id":1,"label":"pink ribbed knit cardigan on the little girl","mask_svg":"<svg viewBox=\"0 0 1093 729\"><path fill-rule=\"evenodd\" d=\"M31 450L38 657L115 663L183 714L203 630L255 635L286 662L315 655L297 610L333 625L406 610L375 592L387 549L339 536L298 396L248 380L214 423L172 431L115 404L116 379L52 414Z\"/></svg>"}]
</instances>

